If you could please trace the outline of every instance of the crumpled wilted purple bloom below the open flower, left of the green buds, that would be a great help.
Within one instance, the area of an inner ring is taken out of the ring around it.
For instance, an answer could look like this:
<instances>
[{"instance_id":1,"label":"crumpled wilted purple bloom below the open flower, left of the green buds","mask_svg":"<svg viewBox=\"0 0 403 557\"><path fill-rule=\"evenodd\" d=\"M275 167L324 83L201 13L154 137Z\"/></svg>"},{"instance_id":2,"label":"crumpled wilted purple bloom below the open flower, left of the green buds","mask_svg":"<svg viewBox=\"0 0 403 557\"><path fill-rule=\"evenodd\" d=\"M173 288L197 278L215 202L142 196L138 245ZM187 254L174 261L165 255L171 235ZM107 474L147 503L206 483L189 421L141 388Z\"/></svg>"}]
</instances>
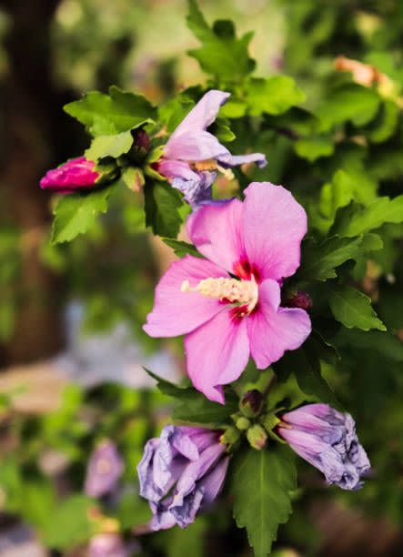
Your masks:
<instances>
[{"instance_id":1,"label":"crumpled wilted purple bloom below the open flower, left of the green buds","mask_svg":"<svg viewBox=\"0 0 403 557\"><path fill-rule=\"evenodd\" d=\"M229 456L221 432L166 426L147 441L137 466L140 495L149 501L152 530L186 528L222 489Z\"/></svg>"}]
</instances>

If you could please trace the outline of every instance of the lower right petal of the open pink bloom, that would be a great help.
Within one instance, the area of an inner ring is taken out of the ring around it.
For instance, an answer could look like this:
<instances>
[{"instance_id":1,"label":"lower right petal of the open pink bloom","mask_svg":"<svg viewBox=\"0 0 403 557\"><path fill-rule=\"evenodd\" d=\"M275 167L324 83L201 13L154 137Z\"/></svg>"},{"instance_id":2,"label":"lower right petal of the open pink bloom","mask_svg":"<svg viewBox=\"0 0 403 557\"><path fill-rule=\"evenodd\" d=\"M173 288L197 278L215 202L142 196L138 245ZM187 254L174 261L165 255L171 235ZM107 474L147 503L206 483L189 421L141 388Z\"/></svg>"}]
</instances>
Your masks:
<instances>
[{"instance_id":1,"label":"lower right petal of the open pink bloom","mask_svg":"<svg viewBox=\"0 0 403 557\"><path fill-rule=\"evenodd\" d=\"M257 311L247 318L250 351L257 368L264 370L279 360L286 350L295 350L311 331L304 309L279 308L280 288L267 279L259 285Z\"/></svg>"}]
</instances>

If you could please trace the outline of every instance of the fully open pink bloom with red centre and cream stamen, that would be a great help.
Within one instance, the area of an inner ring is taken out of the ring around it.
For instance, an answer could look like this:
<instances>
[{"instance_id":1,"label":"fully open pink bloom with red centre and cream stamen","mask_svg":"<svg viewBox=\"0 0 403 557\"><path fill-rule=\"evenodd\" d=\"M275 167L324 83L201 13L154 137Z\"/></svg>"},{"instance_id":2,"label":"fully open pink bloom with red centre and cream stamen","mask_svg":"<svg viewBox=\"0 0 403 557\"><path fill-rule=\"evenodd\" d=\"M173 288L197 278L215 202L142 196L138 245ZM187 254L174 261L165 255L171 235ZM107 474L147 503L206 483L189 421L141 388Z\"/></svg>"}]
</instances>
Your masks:
<instances>
[{"instance_id":1,"label":"fully open pink bloom with red centre and cream stamen","mask_svg":"<svg viewBox=\"0 0 403 557\"><path fill-rule=\"evenodd\" d=\"M311 330L304 309L280 307L282 279L299 266L305 210L268 182L250 184L245 195L188 218L188 235L207 259L186 256L168 268L144 326L152 337L186 335L190 379L221 403L222 385L237 380L249 354L264 370Z\"/></svg>"}]
</instances>

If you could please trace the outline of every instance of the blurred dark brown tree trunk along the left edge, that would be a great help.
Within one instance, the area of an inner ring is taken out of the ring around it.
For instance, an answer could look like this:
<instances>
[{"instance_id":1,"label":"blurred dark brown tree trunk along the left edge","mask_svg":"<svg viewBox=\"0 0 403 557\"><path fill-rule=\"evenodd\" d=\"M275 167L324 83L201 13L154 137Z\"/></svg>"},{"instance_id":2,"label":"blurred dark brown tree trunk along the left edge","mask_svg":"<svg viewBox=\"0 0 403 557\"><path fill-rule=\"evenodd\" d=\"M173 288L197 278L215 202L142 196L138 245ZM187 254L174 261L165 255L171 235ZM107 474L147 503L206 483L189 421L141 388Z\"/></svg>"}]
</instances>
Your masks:
<instances>
[{"instance_id":1,"label":"blurred dark brown tree trunk along the left edge","mask_svg":"<svg viewBox=\"0 0 403 557\"><path fill-rule=\"evenodd\" d=\"M50 221L50 197L39 179L59 163L72 131L63 115L66 100L52 82L50 25L59 0L0 0L10 16L5 38L7 73L0 82L0 216L22 231L19 311L5 364L37 360L60 349L63 290L38 258ZM69 99L67 99L69 100ZM74 127L74 124L73 124ZM74 132L74 128L73 128Z\"/></svg>"}]
</instances>

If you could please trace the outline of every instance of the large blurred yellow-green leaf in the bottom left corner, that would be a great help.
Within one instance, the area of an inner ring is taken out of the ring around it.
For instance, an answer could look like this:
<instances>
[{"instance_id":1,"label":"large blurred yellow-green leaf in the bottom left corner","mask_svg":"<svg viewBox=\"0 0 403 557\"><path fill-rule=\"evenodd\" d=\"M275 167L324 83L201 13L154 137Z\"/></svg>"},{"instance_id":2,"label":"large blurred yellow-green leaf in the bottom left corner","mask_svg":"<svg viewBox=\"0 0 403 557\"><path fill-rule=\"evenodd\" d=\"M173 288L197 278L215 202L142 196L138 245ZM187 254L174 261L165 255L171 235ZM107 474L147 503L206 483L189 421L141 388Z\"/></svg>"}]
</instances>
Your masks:
<instances>
[{"instance_id":1,"label":"large blurred yellow-green leaf in the bottom left corner","mask_svg":"<svg viewBox=\"0 0 403 557\"><path fill-rule=\"evenodd\" d=\"M96 524L88 516L89 509L95 506L95 502L85 495L73 495L60 502L45 524L45 545L65 550L86 542L95 533Z\"/></svg>"}]
</instances>

